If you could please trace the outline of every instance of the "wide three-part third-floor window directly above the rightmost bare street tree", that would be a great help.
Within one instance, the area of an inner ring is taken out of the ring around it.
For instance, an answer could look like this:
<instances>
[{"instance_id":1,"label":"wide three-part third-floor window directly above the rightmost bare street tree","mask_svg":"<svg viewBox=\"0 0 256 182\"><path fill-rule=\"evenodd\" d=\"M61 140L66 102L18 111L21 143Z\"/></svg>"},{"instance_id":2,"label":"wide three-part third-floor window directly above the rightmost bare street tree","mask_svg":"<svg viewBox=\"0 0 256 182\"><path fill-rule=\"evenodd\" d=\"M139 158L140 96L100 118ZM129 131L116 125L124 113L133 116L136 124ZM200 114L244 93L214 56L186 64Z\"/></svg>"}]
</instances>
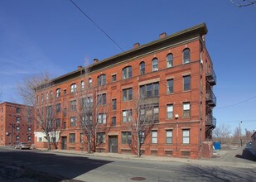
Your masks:
<instances>
[{"instance_id":1,"label":"wide three-part third-floor window directly above the rightmost bare street tree","mask_svg":"<svg viewBox=\"0 0 256 182\"><path fill-rule=\"evenodd\" d=\"M141 98L152 98L159 95L159 83L145 84L140 86Z\"/></svg>"}]
</instances>

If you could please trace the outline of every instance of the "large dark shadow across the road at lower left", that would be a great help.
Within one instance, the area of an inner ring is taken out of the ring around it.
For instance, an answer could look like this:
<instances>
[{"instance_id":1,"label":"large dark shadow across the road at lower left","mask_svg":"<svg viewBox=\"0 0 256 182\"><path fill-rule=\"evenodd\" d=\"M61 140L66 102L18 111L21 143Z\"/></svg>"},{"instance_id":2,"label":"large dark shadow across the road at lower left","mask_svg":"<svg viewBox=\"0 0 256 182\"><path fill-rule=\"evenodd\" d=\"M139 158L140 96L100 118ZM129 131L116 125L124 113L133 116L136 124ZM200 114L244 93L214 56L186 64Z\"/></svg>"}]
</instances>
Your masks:
<instances>
[{"instance_id":1,"label":"large dark shadow across the road at lower left","mask_svg":"<svg viewBox=\"0 0 256 182\"><path fill-rule=\"evenodd\" d=\"M112 161L84 156L63 156L37 151L0 151L0 163L19 165L51 175L74 179Z\"/></svg>"}]
</instances>

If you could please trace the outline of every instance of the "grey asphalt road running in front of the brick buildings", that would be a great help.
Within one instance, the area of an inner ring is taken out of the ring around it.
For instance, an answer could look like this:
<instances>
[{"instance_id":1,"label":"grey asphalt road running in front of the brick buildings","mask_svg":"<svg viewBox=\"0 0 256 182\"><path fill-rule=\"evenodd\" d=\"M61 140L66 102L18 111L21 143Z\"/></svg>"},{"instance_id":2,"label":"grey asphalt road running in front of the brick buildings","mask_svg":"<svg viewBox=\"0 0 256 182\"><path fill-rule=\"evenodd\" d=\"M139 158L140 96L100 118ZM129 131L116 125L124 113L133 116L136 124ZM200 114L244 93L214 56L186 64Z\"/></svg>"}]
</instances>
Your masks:
<instances>
[{"instance_id":1,"label":"grey asphalt road running in front of the brick buildings","mask_svg":"<svg viewBox=\"0 0 256 182\"><path fill-rule=\"evenodd\" d=\"M208 160L209 162L209 160ZM82 181L256 181L255 168L187 164L175 161L91 158L0 147L0 163Z\"/></svg>"}]
</instances>

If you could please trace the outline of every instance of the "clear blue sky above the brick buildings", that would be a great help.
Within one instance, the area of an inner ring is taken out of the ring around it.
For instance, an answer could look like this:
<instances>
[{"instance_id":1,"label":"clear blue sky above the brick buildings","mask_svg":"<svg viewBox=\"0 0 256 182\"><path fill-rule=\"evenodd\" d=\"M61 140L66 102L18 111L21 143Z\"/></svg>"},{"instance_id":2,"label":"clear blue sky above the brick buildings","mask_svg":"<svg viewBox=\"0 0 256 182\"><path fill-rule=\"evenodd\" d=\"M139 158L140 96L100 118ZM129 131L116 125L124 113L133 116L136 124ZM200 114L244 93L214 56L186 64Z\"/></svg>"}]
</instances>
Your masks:
<instances>
[{"instance_id":1,"label":"clear blue sky above the brick buildings","mask_svg":"<svg viewBox=\"0 0 256 182\"><path fill-rule=\"evenodd\" d=\"M73 0L123 50L205 22L206 46L214 63L217 125L256 129L256 7L229 0ZM17 83L32 74L60 76L122 52L69 0L0 1L2 101L21 102ZM237 104L239 103L239 104Z\"/></svg>"}]
</instances>

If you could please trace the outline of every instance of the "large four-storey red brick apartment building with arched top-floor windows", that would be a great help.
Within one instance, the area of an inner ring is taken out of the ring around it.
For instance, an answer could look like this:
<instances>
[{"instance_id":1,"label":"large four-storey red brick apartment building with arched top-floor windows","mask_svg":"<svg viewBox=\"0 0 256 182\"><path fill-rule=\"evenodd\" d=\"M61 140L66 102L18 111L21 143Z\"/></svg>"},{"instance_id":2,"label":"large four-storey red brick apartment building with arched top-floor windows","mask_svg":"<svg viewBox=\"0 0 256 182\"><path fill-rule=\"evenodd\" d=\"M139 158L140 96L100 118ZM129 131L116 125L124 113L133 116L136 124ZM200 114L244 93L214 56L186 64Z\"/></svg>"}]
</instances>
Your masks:
<instances>
[{"instance_id":1,"label":"large four-storey red brick apartment building with arched top-floor windows","mask_svg":"<svg viewBox=\"0 0 256 182\"><path fill-rule=\"evenodd\" d=\"M213 108L216 98L213 86L216 76L210 55L205 46L205 23L193 26L170 36L162 33L159 39L145 45L138 43L132 50L105 60L94 59L89 65L89 86L104 85L104 107L107 113L98 117L108 132L97 133L101 138L96 151L132 154L132 140L128 130L128 113L133 113L135 93L145 92L148 103L154 104L157 122L148 138L144 155L174 157L210 157L211 135L216 120ZM58 115L58 148L85 150L82 134L75 124L75 112L68 113L75 103L75 94L85 87L85 68L51 80L51 95L58 97L61 112ZM49 88L47 88L49 90ZM36 93L41 101L48 97L46 88ZM133 100L134 99L134 100ZM107 104L109 103L109 104ZM71 109L72 110L72 109ZM97 120L97 118L95 119ZM44 134L35 132L35 145L46 147Z\"/></svg>"}]
</instances>

